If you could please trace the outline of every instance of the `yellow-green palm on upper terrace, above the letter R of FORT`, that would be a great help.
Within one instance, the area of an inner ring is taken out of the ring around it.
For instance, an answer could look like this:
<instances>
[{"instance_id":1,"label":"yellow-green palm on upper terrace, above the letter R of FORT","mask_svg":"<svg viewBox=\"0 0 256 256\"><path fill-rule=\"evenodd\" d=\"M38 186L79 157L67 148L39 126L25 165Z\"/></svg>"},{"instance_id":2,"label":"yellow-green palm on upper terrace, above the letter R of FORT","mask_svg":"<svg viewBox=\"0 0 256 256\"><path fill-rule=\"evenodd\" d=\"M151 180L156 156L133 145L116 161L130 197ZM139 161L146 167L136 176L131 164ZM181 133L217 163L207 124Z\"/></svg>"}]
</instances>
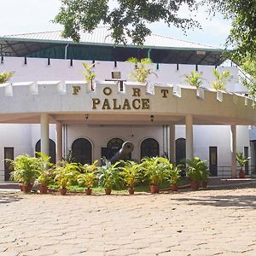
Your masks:
<instances>
[{"instance_id":1,"label":"yellow-green palm on upper terrace, above the letter R of FORT","mask_svg":"<svg viewBox=\"0 0 256 256\"><path fill-rule=\"evenodd\" d=\"M157 77L156 73L154 73L151 68L146 68L147 65L153 63L149 58L144 58L139 61L137 58L131 57L127 62L134 64L135 68L129 76L136 79L137 82L147 83L148 75L152 73Z\"/></svg>"}]
</instances>

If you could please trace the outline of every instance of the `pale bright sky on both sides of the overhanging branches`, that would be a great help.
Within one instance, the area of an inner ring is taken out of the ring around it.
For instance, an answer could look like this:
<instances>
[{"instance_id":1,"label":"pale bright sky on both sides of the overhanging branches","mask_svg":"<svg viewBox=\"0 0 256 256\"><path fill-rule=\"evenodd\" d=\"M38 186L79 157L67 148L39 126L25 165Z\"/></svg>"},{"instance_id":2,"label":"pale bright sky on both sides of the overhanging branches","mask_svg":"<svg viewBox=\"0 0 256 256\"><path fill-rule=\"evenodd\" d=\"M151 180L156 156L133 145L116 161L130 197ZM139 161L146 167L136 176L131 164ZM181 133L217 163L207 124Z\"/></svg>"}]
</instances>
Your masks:
<instances>
[{"instance_id":1,"label":"pale bright sky on both sides of the overhanging branches","mask_svg":"<svg viewBox=\"0 0 256 256\"><path fill-rule=\"evenodd\" d=\"M0 36L62 29L61 25L51 21L61 7L60 0L0 0L0 3ZM195 14L191 14L186 8L181 9L181 15L195 17ZM203 8L195 19L200 22L202 29L189 30L187 35L180 29L166 26L163 22L151 24L149 27L155 34L224 48L230 31L230 21L223 20L221 15L209 19Z\"/></svg>"}]
</instances>

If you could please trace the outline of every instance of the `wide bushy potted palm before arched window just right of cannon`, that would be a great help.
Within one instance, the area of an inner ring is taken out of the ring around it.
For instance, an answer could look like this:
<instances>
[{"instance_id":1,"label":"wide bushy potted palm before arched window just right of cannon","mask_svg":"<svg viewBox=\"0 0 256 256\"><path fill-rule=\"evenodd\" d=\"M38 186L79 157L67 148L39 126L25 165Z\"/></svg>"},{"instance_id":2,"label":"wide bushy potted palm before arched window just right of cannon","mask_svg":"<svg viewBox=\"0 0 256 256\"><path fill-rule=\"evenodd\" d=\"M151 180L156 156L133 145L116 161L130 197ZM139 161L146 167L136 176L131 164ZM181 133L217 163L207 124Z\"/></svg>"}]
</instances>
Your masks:
<instances>
[{"instance_id":1,"label":"wide bushy potted palm before arched window just right of cannon","mask_svg":"<svg viewBox=\"0 0 256 256\"><path fill-rule=\"evenodd\" d=\"M166 177L166 169L170 164L164 157L147 157L142 160L145 176L149 179L150 192L159 193L160 183Z\"/></svg>"}]
</instances>

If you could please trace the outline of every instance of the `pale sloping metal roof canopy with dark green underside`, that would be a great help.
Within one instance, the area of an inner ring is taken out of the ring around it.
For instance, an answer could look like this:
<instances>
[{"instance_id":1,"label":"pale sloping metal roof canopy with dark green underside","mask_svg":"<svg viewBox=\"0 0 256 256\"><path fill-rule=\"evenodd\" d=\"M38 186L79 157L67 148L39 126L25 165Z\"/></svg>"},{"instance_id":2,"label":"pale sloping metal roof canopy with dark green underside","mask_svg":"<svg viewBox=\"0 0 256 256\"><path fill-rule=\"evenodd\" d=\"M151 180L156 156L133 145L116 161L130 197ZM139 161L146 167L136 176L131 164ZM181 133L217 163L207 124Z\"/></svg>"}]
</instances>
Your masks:
<instances>
[{"instance_id":1,"label":"pale sloping metal roof canopy with dark green underside","mask_svg":"<svg viewBox=\"0 0 256 256\"><path fill-rule=\"evenodd\" d=\"M204 44L152 34L143 48L131 44L114 44L108 27L98 27L92 33L81 32L79 43L62 38L61 31L10 35L0 38L0 54L64 59L125 61L128 57L150 57L154 62L219 65L223 49ZM68 46L67 46L68 45Z\"/></svg>"}]
</instances>

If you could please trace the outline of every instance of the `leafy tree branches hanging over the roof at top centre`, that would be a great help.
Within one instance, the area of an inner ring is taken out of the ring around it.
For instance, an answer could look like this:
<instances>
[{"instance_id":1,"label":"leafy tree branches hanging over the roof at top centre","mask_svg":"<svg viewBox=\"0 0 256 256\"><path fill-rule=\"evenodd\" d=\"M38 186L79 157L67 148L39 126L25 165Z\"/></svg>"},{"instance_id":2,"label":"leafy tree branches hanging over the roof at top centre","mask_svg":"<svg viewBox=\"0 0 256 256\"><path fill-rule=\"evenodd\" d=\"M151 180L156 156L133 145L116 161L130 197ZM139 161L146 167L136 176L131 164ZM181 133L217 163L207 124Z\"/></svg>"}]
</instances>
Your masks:
<instances>
[{"instance_id":1,"label":"leafy tree branches hanging over the roof at top centre","mask_svg":"<svg viewBox=\"0 0 256 256\"><path fill-rule=\"evenodd\" d=\"M61 9L55 22L64 26L64 38L79 42L81 30L92 32L100 24L108 25L115 44L127 44L126 35L133 44L143 45L150 35L148 23L163 20L168 26L183 31L198 26L195 20L181 18L177 12L183 4L195 8L196 0L116 0L111 8L110 0L61 0Z\"/></svg>"}]
</instances>

